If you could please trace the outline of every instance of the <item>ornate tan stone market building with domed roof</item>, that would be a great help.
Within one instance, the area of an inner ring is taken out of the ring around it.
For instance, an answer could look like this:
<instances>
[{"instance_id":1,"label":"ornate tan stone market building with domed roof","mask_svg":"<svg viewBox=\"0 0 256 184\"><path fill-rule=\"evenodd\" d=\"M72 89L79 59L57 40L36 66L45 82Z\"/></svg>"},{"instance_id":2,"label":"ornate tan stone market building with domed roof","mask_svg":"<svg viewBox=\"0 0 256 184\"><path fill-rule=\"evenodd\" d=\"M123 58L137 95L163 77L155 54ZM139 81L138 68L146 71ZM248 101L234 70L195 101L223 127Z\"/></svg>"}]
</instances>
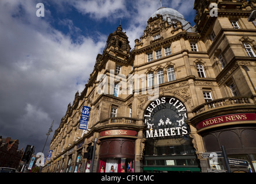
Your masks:
<instances>
[{"instance_id":1,"label":"ornate tan stone market building with domed roof","mask_svg":"<svg viewBox=\"0 0 256 184\"><path fill-rule=\"evenodd\" d=\"M160 7L133 49L121 25L109 34L43 172L226 170L221 157L202 156L222 145L228 158L249 163L232 172L256 171L256 28L248 21L256 1L211 3L195 0L193 27Z\"/></svg>"}]
</instances>

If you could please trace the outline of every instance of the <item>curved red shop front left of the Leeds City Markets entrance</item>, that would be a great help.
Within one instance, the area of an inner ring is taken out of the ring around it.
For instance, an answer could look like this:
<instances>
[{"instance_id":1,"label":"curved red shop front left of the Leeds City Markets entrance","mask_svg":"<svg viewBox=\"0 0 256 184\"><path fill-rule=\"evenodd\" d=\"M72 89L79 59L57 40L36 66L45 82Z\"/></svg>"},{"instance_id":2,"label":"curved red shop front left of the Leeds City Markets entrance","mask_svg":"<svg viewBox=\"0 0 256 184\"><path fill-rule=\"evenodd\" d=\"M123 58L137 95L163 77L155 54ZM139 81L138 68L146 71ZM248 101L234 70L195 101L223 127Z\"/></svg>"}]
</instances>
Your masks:
<instances>
[{"instance_id":1,"label":"curved red shop front left of the Leeds City Markets entrance","mask_svg":"<svg viewBox=\"0 0 256 184\"><path fill-rule=\"evenodd\" d=\"M120 133L132 134L135 136L136 131L112 130L101 132L101 137L120 135ZM101 140L99 148L99 173L133 173L135 158L135 139L129 138L107 138Z\"/></svg>"}]
</instances>

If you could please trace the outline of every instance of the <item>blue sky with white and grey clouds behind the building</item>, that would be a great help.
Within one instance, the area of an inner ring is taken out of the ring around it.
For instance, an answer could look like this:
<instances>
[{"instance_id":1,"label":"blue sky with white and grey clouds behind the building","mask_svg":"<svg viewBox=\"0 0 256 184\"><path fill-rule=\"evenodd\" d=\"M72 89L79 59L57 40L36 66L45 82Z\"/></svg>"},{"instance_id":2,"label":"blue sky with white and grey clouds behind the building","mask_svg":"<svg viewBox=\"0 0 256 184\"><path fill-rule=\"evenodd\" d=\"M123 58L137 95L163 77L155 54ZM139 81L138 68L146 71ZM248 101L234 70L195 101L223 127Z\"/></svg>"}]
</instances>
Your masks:
<instances>
[{"instance_id":1,"label":"blue sky with white and grey clouds behind the building","mask_svg":"<svg viewBox=\"0 0 256 184\"><path fill-rule=\"evenodd\" d=\"M44 17L36 15L38 3ZM193 5L162 0L191 25ZM159 7L159 0L1 0L0 136L18 139L18 149L29 144L42 152L51 122L55 131L76 91L83 91L107 36L121 22L133 48Z\"/></svg>"}]
</instances>

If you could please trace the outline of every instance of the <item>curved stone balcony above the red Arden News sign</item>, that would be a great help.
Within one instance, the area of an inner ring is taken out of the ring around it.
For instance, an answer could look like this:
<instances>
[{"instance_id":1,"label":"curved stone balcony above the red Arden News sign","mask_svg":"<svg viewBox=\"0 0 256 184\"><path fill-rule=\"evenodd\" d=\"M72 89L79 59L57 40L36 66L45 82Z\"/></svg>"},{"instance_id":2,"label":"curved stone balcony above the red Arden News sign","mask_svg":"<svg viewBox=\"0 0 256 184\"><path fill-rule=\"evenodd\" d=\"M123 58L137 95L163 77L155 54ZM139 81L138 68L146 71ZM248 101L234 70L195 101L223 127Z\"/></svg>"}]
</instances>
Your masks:
<instances>
[{"instance_id":1,"label":"curved stone balcony above the red Arden News sign","mask_svg":"<svg viewBox=\"0 0 256 184\"><path fill-rule=\"evenodd\" d=\"M205 104L199 105L194 110L192 110L192 114L194 116L198 116L199 114L207 112L217 112L223 110L224 108L241 109L242 106L244 108L255 108L256 105L254 99L251 97L227 97L216 99L210 102L206 102Z\"/></svg>"}]
</instances>

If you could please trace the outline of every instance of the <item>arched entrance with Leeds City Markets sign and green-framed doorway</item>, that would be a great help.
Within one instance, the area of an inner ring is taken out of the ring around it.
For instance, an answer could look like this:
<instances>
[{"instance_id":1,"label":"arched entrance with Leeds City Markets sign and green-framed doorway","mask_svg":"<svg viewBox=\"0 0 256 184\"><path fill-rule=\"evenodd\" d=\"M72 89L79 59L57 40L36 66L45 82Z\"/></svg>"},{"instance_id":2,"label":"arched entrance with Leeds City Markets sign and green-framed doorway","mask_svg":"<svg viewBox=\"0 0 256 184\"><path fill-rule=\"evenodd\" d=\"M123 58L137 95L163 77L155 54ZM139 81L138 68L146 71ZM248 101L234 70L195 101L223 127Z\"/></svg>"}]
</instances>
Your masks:
<instances>
[{"instance_id":1,"label":"arched entrance with Leeds City Markets sign and green-framed doorway","mask_svg":"<svg viewBox=\"0 0 256 184\"><path fill-rule=\"evenodd\" d=\"M199 172L199 160L185 123L187 109L177 98L160 97L144 111L144 172Z\"/></svg>"}]
</instances>

